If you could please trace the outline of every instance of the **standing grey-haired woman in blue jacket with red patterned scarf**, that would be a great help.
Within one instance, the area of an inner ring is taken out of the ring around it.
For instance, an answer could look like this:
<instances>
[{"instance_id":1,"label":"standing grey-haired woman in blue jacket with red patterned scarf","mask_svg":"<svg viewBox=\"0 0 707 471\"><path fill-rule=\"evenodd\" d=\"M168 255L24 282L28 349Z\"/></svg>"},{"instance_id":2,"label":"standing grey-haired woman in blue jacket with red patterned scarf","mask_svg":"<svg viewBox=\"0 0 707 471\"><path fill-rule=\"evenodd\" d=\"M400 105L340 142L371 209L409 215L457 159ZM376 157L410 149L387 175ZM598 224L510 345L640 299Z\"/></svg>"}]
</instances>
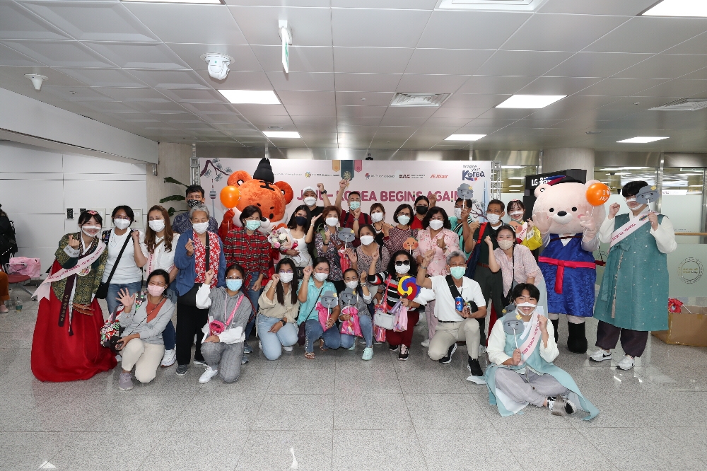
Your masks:
<instances>
[{"instance_id":1,"label":"standing grey-haired woman in blue jacket with red patterned scarf","mask_svg":"<svg viewBox=\"0 0 707 471\"><path fill-rule=\"evenodd\" d=\"M174 281L177 292L177 375L184 376L189 369L194 335L197 345L201 344L208 309L197 307L197 291L206 283L206 272L214 270L218 276L211 279L213 289L226 284L226 257L223 256L221 239L218 234L208 231L209 209L199 204L189 209L192 231L183 233L175 249L175 267L179 269ZM194 351L194 364L205 365L201 349Z\"/></svg>"}]
</instances>

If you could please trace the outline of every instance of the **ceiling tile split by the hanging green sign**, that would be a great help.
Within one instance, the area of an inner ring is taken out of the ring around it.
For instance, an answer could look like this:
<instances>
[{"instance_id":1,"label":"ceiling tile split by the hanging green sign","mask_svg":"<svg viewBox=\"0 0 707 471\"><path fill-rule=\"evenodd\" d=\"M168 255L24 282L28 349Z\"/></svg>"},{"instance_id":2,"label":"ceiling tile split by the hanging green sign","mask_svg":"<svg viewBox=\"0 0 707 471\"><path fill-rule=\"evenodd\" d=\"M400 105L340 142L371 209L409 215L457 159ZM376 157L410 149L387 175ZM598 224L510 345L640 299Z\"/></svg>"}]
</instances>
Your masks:
<instances>
[{"instance_id":1,"label":"ceiling tile split by the hanging green sign","mask_svg":"<svg viewBox=\"0 0 707 471\"><path fill-rule=\"evenodd\" d=\"M252 46L264 71L284 71L281 46ZM295 46L289 48L290 72L333 72L331 47Z\"/></svg>"}]
</instances>

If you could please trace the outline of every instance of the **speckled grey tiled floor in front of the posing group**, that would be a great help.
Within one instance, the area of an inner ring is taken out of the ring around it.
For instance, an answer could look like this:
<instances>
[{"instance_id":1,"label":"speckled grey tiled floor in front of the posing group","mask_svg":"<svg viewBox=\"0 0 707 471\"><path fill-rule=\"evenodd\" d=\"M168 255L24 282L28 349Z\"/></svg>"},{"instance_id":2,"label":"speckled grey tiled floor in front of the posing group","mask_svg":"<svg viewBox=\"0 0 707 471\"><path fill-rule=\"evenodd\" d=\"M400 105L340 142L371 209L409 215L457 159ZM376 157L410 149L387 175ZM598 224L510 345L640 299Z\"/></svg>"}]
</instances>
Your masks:
<instances>
[{"instance_id":1,"label":"speckled grey tiled floor in front of the posing group","mask_svg":"<svg viewBox=\"0 0 707 471\"><path fill-rule=\"evenodd\" d=\"M25 298L26 299L26 298ZM633 371L562 345L556 364L600 408L592 421L528 407L500 417L468 383L466 349L429 360L416 327L407 362L387 347L255 353L237 383L163 369L117 388L117 371L76 383L30 372L37 303L0 315L2 470L700 470L707 467L707 349L651 337ZM563 322L563 321L562 321ZM596 325L588 322L593 337ZM593 339L590 338L590 344ZM485 364L485 359L484 359Z\"/></svg>"}]
</instances>

